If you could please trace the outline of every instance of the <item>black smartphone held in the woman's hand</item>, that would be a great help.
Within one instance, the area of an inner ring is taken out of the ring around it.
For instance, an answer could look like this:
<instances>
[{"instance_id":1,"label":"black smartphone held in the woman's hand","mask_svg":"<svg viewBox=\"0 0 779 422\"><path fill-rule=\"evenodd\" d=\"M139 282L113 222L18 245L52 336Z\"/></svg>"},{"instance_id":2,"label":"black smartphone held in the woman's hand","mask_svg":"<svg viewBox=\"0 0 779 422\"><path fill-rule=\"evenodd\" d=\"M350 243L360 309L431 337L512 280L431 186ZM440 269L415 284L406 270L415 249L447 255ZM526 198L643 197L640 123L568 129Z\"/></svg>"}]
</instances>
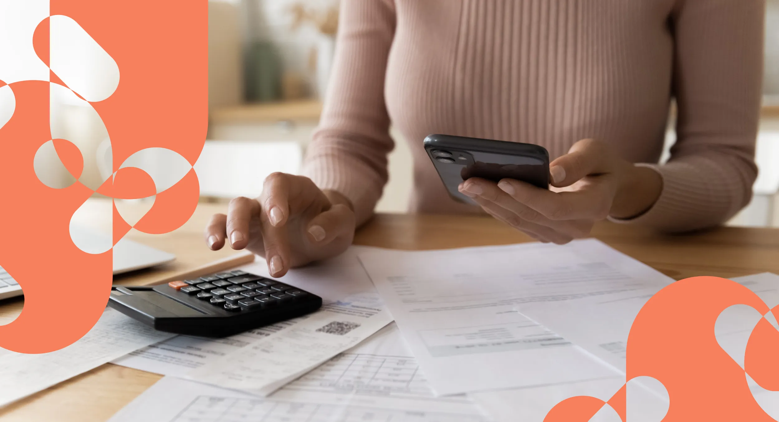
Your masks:
<instances>
[{"instance_id":1,"label":"black smartphone held in the woman's hand","mask_svg":"<svg viewBox=\"0 0 779 422\"><path fill-rule=\"evenodd\" d=\"M496 183L516 179L549 188L549 153L543 146L453 135L428 135L425 151L453 198L474 203L457 186L469 178Z\"/></svg>"}]
</instances>

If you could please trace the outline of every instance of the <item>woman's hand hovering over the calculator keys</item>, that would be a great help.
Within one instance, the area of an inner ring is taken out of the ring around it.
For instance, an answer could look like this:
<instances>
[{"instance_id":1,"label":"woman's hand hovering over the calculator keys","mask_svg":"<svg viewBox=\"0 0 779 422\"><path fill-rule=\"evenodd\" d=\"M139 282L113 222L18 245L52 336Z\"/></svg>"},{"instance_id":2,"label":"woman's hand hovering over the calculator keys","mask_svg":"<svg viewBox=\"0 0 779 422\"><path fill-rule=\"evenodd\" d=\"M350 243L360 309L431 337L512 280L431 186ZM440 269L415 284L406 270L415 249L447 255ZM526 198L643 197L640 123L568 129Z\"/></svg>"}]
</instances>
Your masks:
<instances>
[{"instance_id":1,"label":"woman's hand hovering over the calculator keys","mask_svg":"<svg viewBox=\"0 0 779 422\"><path fill-rule=\"evenodd\" d=\"M330 258L345 251L354 237L351 202L338 192L323 192L309 178L273 173L258 199L231 200L227 215L215 214L206 227L214 251L229 240L268 262L270 275Z\"/></svg>"}]
</instances>

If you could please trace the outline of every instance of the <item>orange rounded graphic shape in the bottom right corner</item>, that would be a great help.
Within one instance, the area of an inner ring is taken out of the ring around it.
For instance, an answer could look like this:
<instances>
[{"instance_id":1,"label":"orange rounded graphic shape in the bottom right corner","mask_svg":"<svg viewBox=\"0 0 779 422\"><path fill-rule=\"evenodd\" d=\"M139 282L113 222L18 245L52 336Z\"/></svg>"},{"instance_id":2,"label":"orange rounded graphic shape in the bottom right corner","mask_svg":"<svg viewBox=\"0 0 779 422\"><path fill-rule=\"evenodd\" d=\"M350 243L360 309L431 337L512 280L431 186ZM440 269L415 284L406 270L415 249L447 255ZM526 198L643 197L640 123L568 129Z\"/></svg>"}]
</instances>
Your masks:
<instances>
[{"instance_id":1,"label":"orange rounded graphic shape in the bottom right corner","mask_svg":"<svg viewBox=\"0 0 779 422\"><path fill-rule=\"evenodd\" d=\"M742 369L714 336L717 318L735 304L746 304L761 315L769 311L760 297L741 284L700 276L665 287L636 316L628 337L626 378L647 376L664 385L670 400L664 422L776 422L756 403L746 374L764 389L779 391L779 332L762 318L749 336ZM774 315L777 311L779 307ZM587 420L594 414L597 399L572 399L558 403L545 420ZM608 403L624 420L625 387Z\"/></svg>"}]
</instances>

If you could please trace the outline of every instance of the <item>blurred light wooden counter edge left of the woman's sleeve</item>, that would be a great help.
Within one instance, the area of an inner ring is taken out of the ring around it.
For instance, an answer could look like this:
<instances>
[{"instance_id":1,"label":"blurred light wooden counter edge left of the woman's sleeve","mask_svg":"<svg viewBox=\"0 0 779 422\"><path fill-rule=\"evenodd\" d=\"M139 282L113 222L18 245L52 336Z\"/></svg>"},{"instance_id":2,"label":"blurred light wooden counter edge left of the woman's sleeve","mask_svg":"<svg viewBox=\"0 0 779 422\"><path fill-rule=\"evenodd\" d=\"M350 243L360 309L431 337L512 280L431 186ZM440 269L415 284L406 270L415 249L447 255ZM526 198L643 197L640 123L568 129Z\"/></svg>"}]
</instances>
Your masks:
<instances>
[{"instance_id":1,"label":"blurred light wooden counter edge left of the woman's sleeve","mask_svg":"<svg viewBox=\"0 0 779 422\"><path fill-rule=\"evenodd\" d=\"M210 114L212 125L235 125L246 123L276 123L278 121L319 121L322 102L319 100L295 100L279 103L242 104L220 107Z\"/></svg>"}]
</instances>

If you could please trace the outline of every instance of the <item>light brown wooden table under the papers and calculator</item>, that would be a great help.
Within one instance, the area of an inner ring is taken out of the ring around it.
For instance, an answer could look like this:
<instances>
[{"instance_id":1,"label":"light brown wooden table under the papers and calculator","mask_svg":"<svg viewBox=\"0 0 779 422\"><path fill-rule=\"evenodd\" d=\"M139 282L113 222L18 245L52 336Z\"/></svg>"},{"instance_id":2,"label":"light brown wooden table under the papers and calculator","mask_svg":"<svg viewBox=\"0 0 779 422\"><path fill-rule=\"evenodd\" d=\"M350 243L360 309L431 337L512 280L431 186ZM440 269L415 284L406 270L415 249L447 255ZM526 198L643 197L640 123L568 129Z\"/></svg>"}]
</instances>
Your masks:
<instances>
[{"instance_id":1,"label":"light brown wooden table under the papers and calculator","mask_svg":"<svg viewBox=\"0 0 779 422\"><path fill-rule=\"evenodd\" d=\"M125 206L129 214L143 211L142 205ZM92 221L110 227L104 210L110 202L92 200ZM201 204L189 223L171 234L148 235L131 232L129 237L155 248L178 255L171 266L119 278L121 283L147 283L163 278L188 266L199 266L231 251L213 252L203 243L202 230L212 213L224 206ZM110 213L108 213L110 216ZM664 236L640 227L601 223L594 237L613 248L633 256L655 269L682 279L689 276L745 276L753 273L779 273L779 229L723 227L697 234ZM410 216L380 214L359 230L355 243L397 249L460 248L488 244L511 244L530 241L502 223L481 216ZM20 307L16 300L0 305L0 315ZM160 375L137 371L114 364L104 364L93 371L62 382L34 396L0 410L0 420L30 422L102 421L129 403Z\"/></svg>"}]
</instances>

